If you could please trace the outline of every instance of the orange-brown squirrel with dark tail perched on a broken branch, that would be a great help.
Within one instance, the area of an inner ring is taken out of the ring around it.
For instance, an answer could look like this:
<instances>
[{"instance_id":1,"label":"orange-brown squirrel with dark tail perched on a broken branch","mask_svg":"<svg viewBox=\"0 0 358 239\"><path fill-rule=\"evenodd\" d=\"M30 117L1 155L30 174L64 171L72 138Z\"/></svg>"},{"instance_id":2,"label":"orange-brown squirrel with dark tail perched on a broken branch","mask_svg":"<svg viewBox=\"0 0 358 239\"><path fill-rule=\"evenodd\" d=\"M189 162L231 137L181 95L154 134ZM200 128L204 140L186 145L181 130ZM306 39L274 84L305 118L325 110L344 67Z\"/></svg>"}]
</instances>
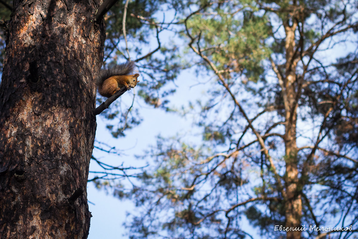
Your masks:
<instances>
[{"instance_id":1,"label":"orange-brown squirrel with dark tail perched on a broken branch","mask_svg":"<svg viewBox=\"0 0 358 239\"><path fill-rule=\"evenodd\" d=\"M126 87L127 90L134 88L139 80L139 74L129 75L135 70L135 62L127 61L119 65L101 70L96 79L98 92L104 97L111 97L117 91Z\"/></svg>"}]
</instances>

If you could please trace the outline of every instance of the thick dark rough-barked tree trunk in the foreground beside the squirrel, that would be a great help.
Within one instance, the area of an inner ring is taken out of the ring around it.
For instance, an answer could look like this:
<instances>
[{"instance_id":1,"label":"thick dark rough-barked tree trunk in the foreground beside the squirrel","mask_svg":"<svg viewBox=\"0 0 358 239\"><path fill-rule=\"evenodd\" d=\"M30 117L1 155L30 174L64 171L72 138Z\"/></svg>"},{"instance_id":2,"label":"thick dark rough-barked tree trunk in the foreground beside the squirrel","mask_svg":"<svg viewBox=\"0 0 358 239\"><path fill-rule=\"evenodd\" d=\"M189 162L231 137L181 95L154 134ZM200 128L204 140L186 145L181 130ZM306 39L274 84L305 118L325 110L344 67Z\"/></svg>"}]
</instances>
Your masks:
<instances>
[{"instance_id":1,"label":"thick dark rough-barked tree trunk in the foreground beside the squirrel","mask_svg":"<svg viewBox=\"0 0 358 239\"><path fill-rule=\"evenodd\" d=\"M94 1L14 1L0 87L0 238L87 238ZM76 189L83 195L68 201Z\"/></svg>"}]
</instances>

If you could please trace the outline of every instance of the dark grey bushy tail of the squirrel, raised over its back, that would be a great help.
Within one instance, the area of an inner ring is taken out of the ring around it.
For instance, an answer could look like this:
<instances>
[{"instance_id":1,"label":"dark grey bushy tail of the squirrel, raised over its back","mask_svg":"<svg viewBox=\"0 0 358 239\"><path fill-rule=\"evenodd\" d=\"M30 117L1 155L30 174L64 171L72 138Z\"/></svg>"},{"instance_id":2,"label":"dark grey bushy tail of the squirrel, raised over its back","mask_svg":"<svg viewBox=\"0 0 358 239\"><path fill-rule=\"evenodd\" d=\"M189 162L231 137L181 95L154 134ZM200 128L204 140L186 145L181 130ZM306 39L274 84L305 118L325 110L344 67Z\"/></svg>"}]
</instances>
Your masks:
<instances>
[{"instance_id":1,"label":"dark grey bushy tail of the squirrel, raised over its back","mask_svg":"<svg viewBox=\"0 0 358 239\"><path fill-rule=\"evenodd\" d=\"M124 75L131 75L135 70L135 62L134 61L127 61L125 63L110 66L104 68L100 71L96 79L96 85L102 85L103 81L110 78L111 76L124 76Z\"/></svg>"}]
</instances>

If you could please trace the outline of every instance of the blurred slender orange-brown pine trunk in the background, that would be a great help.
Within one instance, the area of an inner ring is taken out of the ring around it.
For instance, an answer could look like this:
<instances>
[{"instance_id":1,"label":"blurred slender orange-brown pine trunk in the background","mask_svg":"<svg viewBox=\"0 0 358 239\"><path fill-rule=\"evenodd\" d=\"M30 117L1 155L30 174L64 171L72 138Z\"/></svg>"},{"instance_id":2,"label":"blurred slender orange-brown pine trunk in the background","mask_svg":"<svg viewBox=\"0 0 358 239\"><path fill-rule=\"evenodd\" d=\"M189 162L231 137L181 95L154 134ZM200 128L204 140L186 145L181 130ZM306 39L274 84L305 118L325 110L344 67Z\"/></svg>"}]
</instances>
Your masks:
<instances>
[{"instance_id":1,"label":"blurred slender orange-brown pine trunk in the background","mask_svg":"<svg viewBox=\"0 0 358 239\"><path fill-rule=\"evenodd\" d=\"M296 68L299 58L295 56L295 31L297 23L284 24L286 32L286 64L285 64L285 87L282 89L285 94L285 217L287 239L300 239L301 231L297 230L301 226L302 199L299 188L297 144L296 144L296 124L297 124L297 100L296 90L297 77ZM295 230L296 229L296 230ZM293 230L293 231L292 231Z\"/></svg>"}]
</instances>

